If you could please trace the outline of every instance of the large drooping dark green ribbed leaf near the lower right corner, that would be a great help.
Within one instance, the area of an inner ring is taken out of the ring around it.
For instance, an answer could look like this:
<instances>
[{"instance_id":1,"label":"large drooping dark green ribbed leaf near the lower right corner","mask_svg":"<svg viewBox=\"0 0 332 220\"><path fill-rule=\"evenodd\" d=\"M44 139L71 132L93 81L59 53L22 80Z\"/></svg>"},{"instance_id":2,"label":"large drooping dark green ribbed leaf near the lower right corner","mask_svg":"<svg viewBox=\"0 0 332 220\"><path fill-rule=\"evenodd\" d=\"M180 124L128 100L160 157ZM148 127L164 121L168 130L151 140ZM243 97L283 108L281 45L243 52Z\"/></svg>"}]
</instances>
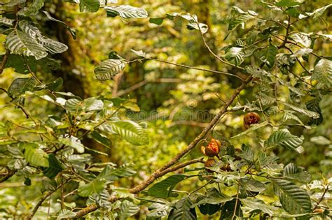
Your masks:
<instances>
[{"instance_id":1,"label":"large drooping dark green ribbed leaf near the lower right corner","mask_svg":"<svg viewBox=\"0 0 332 220\"><path fill-rule=\"evenodd\" d=\"M302 214L311 212L311 200L307 191L286 179L273 179L275 191L280 203L286 212L290 214Z\"/></svg>"}]
</instances>

